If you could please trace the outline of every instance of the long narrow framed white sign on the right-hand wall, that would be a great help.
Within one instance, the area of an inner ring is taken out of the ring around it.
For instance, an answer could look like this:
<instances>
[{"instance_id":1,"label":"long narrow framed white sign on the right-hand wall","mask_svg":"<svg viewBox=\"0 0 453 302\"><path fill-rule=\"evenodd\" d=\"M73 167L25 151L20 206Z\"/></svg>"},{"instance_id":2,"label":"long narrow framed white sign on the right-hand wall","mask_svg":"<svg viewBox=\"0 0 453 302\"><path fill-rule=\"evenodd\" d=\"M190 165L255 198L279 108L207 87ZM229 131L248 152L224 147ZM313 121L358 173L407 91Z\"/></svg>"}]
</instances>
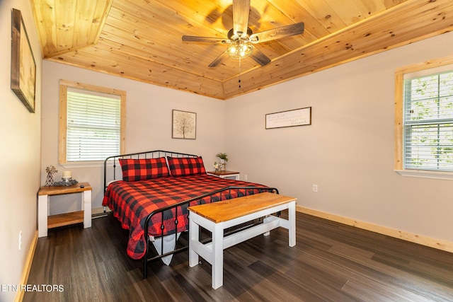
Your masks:
<instances>
[{"instance_id":1,"label":"long narrow framed white sign on the right-hand wall","mask_svg":"<svg viewBox=\"0 0 453 302\"><path fill-rule=\"evenodd\" d=\"M265 118L266 129L304 126L311 124L311 107L269 113Z\"/></svg>"}]
</instances>

